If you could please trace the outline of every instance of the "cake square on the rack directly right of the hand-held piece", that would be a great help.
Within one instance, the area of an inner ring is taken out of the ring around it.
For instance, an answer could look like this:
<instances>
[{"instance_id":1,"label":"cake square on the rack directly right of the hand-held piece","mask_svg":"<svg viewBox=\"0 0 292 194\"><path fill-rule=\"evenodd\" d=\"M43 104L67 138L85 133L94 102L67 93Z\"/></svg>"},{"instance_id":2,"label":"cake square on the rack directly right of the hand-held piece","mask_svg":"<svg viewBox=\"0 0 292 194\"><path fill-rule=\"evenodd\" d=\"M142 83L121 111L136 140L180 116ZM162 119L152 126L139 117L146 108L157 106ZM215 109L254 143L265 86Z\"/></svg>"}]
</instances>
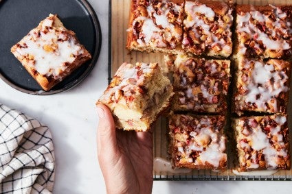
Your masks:
<instances>
[{"instance_id":1,"label":"cake square on the rack directly right of the hand-held piece","mask_svg":"<svg viewBox=\"0 0 292 194\"><path fill-rule=\"evenodd\" d=\"M174 63L173 110L225 114L230 61L181 54Z\"/></svg>"}]
</instances>

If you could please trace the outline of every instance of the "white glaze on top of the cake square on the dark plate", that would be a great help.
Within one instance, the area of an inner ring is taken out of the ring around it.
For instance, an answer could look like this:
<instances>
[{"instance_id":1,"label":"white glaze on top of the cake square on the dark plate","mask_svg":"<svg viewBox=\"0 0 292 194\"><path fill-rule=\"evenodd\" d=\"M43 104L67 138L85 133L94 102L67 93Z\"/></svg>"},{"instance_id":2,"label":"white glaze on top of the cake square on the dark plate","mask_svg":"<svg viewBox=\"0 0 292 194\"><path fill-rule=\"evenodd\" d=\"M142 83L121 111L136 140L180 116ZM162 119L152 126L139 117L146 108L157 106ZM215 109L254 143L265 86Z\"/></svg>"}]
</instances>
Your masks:
<instances>
[{"instance_id":1,"label":"white glaze on top of the cake square on the dark plate","mask_svg":"<svg viewBox=\"0 0 292 194\"><path fill-rule=\"evenodd\" d=\"M66 62L74 62L75 56L79 56L84 51L81 49L79 43L74 38L69 36L65 40L65 29L56 29L53 27L54 21L52 19L45 19L42 23L40 36L38 37L38 29L32 29L27 36L21 40L26 47L19 47L16 51L21 55L33 56L29 65L41 75L53 75L55 79L61 79L60 73L67 69ZM44 33L43 31L47 32ZM60 41L63 40L63 41ZM47 45L54 46L54 51L46 51L44 47Z\"/></svg>"}]
</instances>

